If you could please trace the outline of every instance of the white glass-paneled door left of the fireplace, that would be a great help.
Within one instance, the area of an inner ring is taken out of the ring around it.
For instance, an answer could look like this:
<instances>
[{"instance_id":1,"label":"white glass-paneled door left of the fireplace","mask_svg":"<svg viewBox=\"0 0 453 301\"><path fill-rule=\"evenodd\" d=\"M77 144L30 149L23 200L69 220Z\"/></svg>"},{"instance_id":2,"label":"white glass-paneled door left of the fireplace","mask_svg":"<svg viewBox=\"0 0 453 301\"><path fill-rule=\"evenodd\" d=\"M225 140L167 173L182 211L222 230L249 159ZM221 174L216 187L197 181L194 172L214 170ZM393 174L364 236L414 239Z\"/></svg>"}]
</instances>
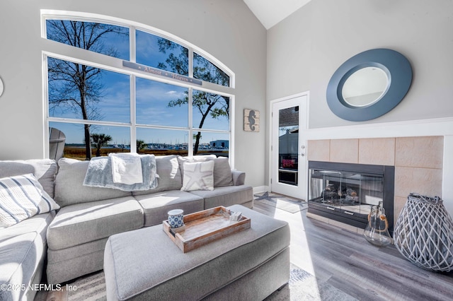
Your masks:
<instances>
[{"instance_id":1,"label":"white glass-paneled door left of the fireplace","mask_svg":"<svg viewBox=\"0 0 453 301\"><path fill-rule=\"evenodd\" d=\"M306 102L302 95L272 104L271 190L306 199Z\"/></svg>"}]
</instances>

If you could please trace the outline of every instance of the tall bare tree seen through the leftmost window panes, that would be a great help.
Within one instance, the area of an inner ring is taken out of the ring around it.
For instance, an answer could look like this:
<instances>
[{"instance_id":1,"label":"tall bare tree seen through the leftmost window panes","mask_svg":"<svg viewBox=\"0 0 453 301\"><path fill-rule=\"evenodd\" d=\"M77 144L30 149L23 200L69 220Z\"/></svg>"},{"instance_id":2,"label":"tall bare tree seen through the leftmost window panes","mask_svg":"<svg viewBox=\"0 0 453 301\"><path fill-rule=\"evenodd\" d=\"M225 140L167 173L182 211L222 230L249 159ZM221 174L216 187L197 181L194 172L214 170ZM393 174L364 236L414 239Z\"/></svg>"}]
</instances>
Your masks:
<instances>
[{"instance_id":1,"label":"tall bare tree seen through the leftmost window panes","mask_svg":"<svg viewBox=\"0 0 453 301\"><path fill-rule=\"evenodd\" d=\"M115 25L71 20L47 20L47 38L67 45L117 57L115 49L105 47L108 33L126 35ZM102 119L96 103L102 101L102 69L71 61L48 58L50 110L60 107L79 114L84 120ZM84 124L86 160L91 159L90 125Z\"/></svg>"}]
</instances>

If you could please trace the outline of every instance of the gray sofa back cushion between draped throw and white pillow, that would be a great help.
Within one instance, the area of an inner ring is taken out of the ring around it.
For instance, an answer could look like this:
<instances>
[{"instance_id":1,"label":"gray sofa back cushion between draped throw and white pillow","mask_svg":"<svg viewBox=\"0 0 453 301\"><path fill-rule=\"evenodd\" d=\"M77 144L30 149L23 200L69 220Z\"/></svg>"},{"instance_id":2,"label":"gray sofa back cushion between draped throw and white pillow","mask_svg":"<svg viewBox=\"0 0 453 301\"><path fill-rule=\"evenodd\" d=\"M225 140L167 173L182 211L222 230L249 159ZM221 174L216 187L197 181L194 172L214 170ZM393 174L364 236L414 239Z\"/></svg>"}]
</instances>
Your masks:
<instances>
[{"instance_id":1,"label":"gray sofa back cushion between draped throw and white pillow","mask_svg":"<svg viewBox=\"0 0 453 301\"><path fill-rule=\"evenodd\" d=\"M132 195L152 194L159 191L179 190L183 186L176 155L158 155L156 158L157 187L147 191L132 191Z\"/></svg>"}]
</instances>

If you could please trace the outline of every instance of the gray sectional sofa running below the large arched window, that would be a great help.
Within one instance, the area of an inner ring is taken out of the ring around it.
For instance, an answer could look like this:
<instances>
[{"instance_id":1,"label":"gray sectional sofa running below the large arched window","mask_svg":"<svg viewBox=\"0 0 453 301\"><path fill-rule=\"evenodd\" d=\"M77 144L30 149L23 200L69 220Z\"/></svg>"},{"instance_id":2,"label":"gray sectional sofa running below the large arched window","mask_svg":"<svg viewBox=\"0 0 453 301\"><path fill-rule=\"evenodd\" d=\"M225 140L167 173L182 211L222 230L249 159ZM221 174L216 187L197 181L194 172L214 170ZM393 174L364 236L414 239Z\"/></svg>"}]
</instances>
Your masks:
<instances>
[{"instance_id":1,"label":"gray sectional sofa running below the large arched window","mask_svg":"<svg viewBox=\"0 0 453 301\"><path fill-rule=\"evenodd\" d=\"M185 160L214 160L214 190L180 190ZM230 170L231 174L228 172L225 176L225 169L229 167L225 158L156 156L158 186L148 191L131 192L84 186L88 161L62 158L58 165L52 160L0 161L0 177L13 175L5 168L6 164L10 170L12 165L15 166L16 175L33 172L61 208L56 214L52 211L9 228L0 228L0 284L39 283L45 259L47 283L50 284L100 271L105 242L110 235L158 225L174 208L181 208L187 214L215 206L241 204L253 207L253 189L244 184L245 174ZM26 166L27 170L21 170L21 166ZM16 243L21 236L28 245ZM25 254L30 245L33 245L35 255L33 260L30 260L30 254ZM15 249L15 256L21 256L21 259L3 252L8 248ZM16 268L8 270L7 275L3 271L9 262ZM18 267L24 271L21 276L14 274ZM0 295L0 300L19 300L27 292L20 293Z\"/></svg>"}]
</instances>

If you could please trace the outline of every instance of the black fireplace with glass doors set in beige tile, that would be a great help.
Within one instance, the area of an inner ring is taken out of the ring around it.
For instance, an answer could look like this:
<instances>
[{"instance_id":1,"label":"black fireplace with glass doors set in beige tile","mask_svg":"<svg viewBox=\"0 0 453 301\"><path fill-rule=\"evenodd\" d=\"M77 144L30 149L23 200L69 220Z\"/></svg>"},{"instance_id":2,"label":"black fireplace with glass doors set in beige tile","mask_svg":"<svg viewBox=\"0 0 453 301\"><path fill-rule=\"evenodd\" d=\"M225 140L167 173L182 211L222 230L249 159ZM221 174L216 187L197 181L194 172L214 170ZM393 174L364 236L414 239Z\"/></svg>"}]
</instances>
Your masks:
<instances>
[{"instance_id":1,"label":"black fireplace with glass doors set in beige tile","mask_svg":"<svg viewBox=\"0 0 453 301\"><path fill-rule=\"evenodd\" d=\"M365 229L382 202L392 235L394 178L394 166L309 161L308 212Z\"/></svg>"}]
</instances>

